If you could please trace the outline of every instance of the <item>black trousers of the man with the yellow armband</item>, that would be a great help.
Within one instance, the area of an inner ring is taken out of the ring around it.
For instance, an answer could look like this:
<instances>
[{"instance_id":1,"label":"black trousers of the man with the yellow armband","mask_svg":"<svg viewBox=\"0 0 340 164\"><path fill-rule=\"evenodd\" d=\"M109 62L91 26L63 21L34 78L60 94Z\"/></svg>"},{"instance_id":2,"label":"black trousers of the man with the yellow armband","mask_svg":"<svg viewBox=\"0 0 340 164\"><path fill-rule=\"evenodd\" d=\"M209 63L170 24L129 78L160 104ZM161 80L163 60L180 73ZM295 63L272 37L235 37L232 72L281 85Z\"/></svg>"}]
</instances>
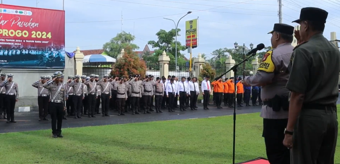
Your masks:
<instances>
[{"instance_id":1,"label":"black trousers of the man with the yellow armband","mask_svg":"<svg viewBox=\"0 0 340 164\"><path fill-rule=\"evenodd\" d=\"M290 164L290 150L283 145L288 119L263 119L267 158L270 164Z\"/></svg>"}]
</instances>

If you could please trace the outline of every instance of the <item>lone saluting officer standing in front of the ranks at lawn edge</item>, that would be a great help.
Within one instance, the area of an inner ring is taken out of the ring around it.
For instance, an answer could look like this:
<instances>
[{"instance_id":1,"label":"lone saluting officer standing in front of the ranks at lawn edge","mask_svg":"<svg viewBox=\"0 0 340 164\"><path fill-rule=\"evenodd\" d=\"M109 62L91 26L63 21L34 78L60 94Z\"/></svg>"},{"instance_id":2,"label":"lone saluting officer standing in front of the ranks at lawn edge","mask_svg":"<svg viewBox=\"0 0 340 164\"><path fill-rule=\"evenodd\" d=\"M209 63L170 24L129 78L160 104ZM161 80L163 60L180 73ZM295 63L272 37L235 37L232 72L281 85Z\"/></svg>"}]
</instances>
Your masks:
<instances>
[{"instance_id":1,"label":"lone saluting officer standing in front of the ranks at lawn edge","mask_svg":"<svg viewBox=\"0 0 340 164\"><path fill-rule=\"evenodd\" d=\"M53 75L53 79L43 84L43 87L48 89L51 94L50 113L53 138L63 138L62 123L64 110L66 110L66 86L60 83L60 78L62 77L60 71L55 72Z\"/></svg>"}]
</instances>

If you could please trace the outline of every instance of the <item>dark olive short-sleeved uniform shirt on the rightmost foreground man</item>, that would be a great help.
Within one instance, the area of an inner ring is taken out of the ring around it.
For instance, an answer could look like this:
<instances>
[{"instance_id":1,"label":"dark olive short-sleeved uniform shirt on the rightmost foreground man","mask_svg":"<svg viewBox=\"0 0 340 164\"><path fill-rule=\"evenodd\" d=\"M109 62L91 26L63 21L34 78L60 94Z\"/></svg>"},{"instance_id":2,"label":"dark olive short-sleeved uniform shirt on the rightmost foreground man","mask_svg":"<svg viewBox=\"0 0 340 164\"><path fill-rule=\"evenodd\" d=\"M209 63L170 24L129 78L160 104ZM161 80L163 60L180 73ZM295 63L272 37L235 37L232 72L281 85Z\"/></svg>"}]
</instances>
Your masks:
<instances>
[{"instance_id":1,"label":"dark olive short-sleeved uniform shirt on the rightmost foreground man","mask_svg":"<svg viewBox=\"0 0 340 164\"><path fill-rule=\"evenodd\" d=\"M339 63L339 49L321 33L315 34L294 49L286 88L305 94L304 103L336 106Z\"/></svg>"}]
</instances>

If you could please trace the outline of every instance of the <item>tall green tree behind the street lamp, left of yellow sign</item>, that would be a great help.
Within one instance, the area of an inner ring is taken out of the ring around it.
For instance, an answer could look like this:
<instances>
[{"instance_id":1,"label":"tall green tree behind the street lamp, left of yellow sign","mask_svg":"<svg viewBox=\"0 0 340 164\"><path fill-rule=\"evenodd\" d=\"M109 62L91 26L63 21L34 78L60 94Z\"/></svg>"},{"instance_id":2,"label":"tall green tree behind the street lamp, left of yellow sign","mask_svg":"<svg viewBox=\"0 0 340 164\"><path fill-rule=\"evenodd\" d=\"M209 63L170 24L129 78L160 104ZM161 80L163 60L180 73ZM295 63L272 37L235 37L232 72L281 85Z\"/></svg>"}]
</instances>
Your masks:
<instances>
[{"instance_id":1,"label":"tall green tree behind the street lamp, left of yellow sign","mask_svg":"<svg viewBox=\"0 0 340 164\"><path fill-rule=\"evenodd\" d=\"M180 33L181 29L177 29L177 36L181 36ZM170 66L175 65L175 52L176 52L176 42L175 42L175 36L176 31L175 29L172 29L170 31L165 30L159 30L156 33L156 36L158 38L157 41L150 40L148 41L148 44L152 46L152 48L155 48L155 54L152 58L143 58L145 61L153 62L155 61L155 58L157 57L157 63L158 63L158 57L162 55L163 51L167 53L167 56L170 57ZM181 44L181 42L177 41L177 65L185 65L184 55L180 53L180 51L184 51L186 47ZM150 59L150 61L149 61ZM152 59L152 61L151 61ZM172 67L169 68L170 70L174 69Z\"/></svg>"}]
</instances>

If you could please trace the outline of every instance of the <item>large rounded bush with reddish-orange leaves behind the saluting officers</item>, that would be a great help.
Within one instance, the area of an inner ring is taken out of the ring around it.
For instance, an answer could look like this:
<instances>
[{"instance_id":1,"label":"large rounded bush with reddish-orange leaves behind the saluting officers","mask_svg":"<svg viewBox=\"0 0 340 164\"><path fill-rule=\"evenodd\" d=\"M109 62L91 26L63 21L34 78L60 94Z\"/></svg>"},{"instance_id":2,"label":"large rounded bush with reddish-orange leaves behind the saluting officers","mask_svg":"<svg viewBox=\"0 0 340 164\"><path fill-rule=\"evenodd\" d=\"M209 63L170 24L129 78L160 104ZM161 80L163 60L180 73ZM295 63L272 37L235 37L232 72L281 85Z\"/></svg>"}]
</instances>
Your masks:
<instances>
[{"instance_id":1,"label":"large rounded bush with reddish-orange leaves behind the saluting officers","mask_svg":"<svg viewBox=\"0 0 340 164\"><path fill-rule=\"evenodd\" d=\"M124 49L125 54L122 59L115 63L111 75L119 75L120 77L133 74L140 74L142 76L146 73L145 62L139 60L136 52L133 51L131 47L126 47Z\"/></svg>"}]
</instances>

